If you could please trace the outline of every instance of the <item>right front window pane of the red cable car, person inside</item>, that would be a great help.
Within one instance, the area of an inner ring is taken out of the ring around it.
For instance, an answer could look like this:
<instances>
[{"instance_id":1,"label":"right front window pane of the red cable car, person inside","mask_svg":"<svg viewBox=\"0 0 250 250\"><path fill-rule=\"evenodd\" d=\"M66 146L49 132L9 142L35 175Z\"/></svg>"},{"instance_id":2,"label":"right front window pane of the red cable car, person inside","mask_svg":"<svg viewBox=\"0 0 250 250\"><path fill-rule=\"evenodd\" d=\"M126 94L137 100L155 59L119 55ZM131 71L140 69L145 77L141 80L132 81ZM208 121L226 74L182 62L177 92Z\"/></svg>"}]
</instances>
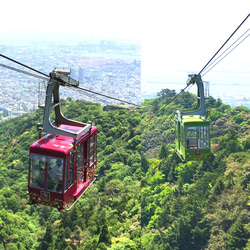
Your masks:
<instances>
[{"instance_id":1,"label":"right front window pane of the red cable car, person inside","mask_svg":"<svg viewBox=\"0 0 250 250\"><path fill-rule=\"evenodd\" d=\"M47 157L47 190L62 192L63 159Z\"/></svg>"}]
</instances>

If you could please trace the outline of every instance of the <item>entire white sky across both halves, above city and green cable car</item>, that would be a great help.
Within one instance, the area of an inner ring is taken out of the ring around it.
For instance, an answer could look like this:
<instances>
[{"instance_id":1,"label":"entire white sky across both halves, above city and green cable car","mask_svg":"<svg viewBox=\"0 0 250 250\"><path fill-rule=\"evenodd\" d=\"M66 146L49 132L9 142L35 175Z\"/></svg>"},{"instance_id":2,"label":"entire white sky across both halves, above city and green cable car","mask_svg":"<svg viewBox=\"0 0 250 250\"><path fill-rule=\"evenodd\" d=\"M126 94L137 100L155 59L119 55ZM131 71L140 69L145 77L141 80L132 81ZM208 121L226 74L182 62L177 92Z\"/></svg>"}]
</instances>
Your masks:
<instances>
[{"instance_id":1,"label":"entire white sky across both halves, above city and green cable car","mask_svg":"<svg viewBox=\"0 0 250 250\"><path fill-rule=\"evenodd\" d=\"M199 72L249 12L249 0L8 0L1 3L0 43L6 32L17 34L18 41L20 30L140 40L142 90L158 90ZM235 38L248 28L250 18ZM250 37L204 80L250 84L249 55ZM166 85L151 83L156 81Z\"/></svg>"}]
</instances>

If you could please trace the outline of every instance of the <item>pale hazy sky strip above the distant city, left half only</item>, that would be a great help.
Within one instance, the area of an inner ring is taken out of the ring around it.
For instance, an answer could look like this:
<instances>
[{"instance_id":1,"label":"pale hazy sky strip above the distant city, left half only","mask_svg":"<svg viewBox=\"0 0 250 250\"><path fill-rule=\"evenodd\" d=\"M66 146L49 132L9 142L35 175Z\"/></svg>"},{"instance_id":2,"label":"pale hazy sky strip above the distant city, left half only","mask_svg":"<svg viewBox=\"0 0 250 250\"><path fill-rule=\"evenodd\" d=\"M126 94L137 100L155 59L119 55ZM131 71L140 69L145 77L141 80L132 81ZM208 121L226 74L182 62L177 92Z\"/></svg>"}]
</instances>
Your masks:
<instances>
[{"instance_id":1,"label":"pale hazy sky strip above the distant city, left half only","mask_svg":"<svg viewBox=\"0 0 250 250\"><path fill-rule=\"evenodd\" d=\"M140 1L131 0L8 0L1 3L0 31L39 30L139 39L140 5Z\"/></svg>"}]
</instances>

